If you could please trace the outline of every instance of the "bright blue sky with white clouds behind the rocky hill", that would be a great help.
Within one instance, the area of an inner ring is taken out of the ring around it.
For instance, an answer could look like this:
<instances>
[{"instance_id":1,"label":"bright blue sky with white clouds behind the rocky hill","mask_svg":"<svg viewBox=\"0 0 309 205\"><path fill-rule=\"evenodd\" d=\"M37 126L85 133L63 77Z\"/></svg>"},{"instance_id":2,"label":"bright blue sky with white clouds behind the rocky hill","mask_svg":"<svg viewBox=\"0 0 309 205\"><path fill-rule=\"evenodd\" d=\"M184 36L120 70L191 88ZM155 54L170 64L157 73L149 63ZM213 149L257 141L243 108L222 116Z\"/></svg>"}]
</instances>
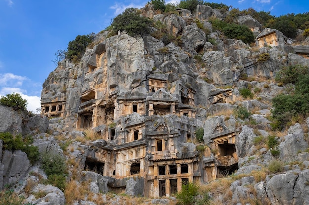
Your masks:
<instances>
[{"instance_id":1,"label":"bright blue sky with white clouds behind the rocky hill","mask_svg":"<svg viewBox=\"0 0 309 205\"><path fill-rule=\"evenodd\" d=\"M0 0L0 95L19 93L28 110L40 107L44 80L58 49L77 35L98 33L126 8L150 0ZM177 3L180 0L165 0ZM308 0L209 0L280 16L309 11Z\"/></svg>"}]
</instances>

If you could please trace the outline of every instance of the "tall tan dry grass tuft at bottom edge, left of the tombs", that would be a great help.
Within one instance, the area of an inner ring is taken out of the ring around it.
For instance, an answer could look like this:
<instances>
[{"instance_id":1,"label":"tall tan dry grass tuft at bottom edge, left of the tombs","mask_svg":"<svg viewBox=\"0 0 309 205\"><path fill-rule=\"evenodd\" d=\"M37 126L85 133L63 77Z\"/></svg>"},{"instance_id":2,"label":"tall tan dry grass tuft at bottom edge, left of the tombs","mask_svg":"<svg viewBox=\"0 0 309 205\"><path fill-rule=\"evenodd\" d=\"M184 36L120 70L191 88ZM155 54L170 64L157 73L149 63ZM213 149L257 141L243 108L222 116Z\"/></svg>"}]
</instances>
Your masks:
<instances>
[{"instance_id":1,"label":"tall tan dry grass tuft at bottom edge, left of the tombs","mask_svg":"<svg viewBox=\"0 0 309 205\"><path fill-rule=\"evenodd\" d=\"M81 188L82 187L78 186L77 182L73 179L66 183L64 196L66 198L67 205L72 205L75 201L83 199Z\"/></svg>"}]
</instances>

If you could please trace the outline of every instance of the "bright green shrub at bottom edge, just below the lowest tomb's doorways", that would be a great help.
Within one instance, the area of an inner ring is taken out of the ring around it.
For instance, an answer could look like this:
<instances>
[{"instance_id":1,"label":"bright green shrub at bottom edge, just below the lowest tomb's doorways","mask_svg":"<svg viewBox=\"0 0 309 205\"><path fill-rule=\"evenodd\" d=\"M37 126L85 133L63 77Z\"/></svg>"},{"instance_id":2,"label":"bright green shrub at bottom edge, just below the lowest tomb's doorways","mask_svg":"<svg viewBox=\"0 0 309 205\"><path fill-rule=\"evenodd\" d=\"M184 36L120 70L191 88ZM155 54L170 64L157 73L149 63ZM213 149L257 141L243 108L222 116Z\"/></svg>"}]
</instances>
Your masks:
<instances>
[{"instance_id":1,"label":"bright green shrub at bottom edge, just below the lowest tomb's doorways","mask_svg":"<svg viewBox=\"0 0 309 205\"><path fill-rule=\"evenodd\" d=\"M193 205L195 202L195 197L198 195L198 190L199 187L192 182L183 184L181 186L181 191L177 193L176 198L183 205Z\"/></svg>"}]
</instances>

